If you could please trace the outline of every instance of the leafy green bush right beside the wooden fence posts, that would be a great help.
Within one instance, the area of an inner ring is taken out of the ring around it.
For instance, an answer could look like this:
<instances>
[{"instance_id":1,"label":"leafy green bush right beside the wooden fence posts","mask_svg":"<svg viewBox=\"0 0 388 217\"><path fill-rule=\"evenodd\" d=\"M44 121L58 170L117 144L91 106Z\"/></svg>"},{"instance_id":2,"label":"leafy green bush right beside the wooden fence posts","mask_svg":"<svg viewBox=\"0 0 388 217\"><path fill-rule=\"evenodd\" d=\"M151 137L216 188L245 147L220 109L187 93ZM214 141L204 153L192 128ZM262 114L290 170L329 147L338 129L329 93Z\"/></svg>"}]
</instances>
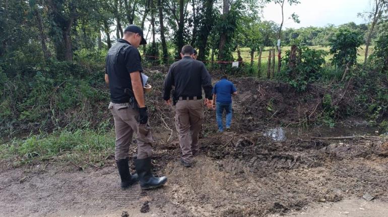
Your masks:
<instances>
[{"instance_id":1,"label":"leafy green bush right beside the wooden fence posts","mask_svg":"<svg viewBox=\"0 0 388 217\"><path fill-rule=\"evenodd\" d=\"M294 45L295 46L295 45ZM280 73L281 79L291 86L304 91L307 84L313 83L322 76L322 65L325 64L325 50L310 49L308 47L287 50L284 57L285 64Z\"/></svg>"}]
</instances>

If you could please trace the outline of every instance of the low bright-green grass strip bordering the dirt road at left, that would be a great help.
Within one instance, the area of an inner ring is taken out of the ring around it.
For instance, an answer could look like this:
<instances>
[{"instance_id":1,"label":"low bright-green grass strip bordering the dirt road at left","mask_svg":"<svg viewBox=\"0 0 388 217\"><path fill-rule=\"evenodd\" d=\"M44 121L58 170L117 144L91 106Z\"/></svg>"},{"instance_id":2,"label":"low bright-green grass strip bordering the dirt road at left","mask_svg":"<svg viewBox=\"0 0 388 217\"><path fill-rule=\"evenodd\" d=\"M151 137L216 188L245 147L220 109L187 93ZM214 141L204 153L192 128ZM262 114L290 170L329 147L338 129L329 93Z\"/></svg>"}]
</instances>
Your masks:
<instances>
[{"instance_id":1,"label":"low bright-green grass strip bordering the dirt road at left","mask_svg":"<svg viewBox=\"0 0 388 217\"><path fill-rule=\"evenodd\" d=\"M11 159L14 166L50 160L100 167L114 153L114 141L114 133L88 129L41 133L0 145L0 159Z\"/></svg>"}]
</instances>

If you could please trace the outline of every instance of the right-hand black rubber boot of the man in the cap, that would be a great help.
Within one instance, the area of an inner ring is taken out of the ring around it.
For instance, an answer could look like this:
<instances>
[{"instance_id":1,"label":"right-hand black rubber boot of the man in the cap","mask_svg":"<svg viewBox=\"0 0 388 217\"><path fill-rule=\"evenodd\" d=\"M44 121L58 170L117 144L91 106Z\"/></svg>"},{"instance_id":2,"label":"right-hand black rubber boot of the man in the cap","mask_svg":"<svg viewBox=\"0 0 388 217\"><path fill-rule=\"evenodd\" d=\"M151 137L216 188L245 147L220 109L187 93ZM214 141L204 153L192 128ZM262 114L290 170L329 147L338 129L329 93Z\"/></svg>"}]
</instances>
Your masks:
<instances>
[{"instance_id":1,"label":"right-hand black rubber boot of the man in the cap","mask_svg":"<svg viewBox=\"0 0 388 217\"><path fill-rule=\"evenodd\" d=\"M139 174L139 182L142 190L158 188L167 182L167 177L155 177L151 173L151 157L136 159L136 171Z\"/></svg>"}]
</instances>

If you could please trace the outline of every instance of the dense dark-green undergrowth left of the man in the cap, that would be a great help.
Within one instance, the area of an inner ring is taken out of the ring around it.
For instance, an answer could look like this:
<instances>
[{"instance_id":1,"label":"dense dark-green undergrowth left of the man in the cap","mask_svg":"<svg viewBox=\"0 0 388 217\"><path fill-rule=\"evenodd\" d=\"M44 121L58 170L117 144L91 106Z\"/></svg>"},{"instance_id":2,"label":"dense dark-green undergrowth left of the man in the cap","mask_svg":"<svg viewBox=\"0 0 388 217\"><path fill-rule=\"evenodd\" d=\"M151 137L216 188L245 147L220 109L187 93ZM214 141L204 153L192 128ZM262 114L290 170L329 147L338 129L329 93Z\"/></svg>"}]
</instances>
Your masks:
<instances>
[{"instance_id":1,"label":"dense dark-green undergrowth left of the man in the cap","mask_svg":"<svg viewBox=\"0 0 388 217\"><path fill-rule=\"evenodd\" d=\"M23 67L24 73L14 77L13 72L0 70L0 88L4 90L0 95L0 136L31 123L42 130L64 126L75 129L102 120L103 111L96 108L109 100L108 91L101 88L102 68L73 62L52 62L39 68L20 66Z\"/></svg>"}]
</instances>

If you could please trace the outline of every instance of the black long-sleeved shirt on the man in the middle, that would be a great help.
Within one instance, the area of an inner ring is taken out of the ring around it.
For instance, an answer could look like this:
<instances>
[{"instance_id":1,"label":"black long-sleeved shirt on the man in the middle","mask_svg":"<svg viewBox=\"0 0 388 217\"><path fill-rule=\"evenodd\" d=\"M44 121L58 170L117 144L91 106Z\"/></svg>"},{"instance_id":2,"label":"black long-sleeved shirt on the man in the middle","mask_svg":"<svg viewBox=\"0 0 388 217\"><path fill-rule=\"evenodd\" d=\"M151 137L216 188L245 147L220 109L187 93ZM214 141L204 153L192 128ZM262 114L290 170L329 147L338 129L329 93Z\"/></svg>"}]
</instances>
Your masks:
<instances>
[{"instance_id":1,"label":"black long-sleeved shirt on the man in the middle","mask_svg":"<svg viewBox=\"0 0 388 217\"><path fill-rule=\"evenodd\" d=\"M193 60L188 56L182 60L173 63L167 73L164 81L163 99L170 98L172 86L175 86L176 97L193 97L202 98L202 89L204 88L205 97L212 99L212 78L205 64Z\"/></svg>"}]
</instances>

